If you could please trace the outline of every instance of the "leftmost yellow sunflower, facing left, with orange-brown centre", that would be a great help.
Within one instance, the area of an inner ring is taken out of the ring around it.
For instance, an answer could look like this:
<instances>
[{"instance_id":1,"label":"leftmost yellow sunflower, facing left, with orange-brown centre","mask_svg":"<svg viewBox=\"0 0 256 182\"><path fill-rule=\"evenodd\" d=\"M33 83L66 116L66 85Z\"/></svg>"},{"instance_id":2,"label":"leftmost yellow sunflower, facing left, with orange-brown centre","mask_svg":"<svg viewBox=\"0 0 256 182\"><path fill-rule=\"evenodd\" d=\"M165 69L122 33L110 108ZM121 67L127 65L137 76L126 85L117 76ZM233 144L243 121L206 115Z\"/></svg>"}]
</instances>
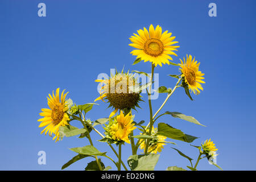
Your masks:
<instances>
[{"instance_id":1,"label":"leftmost yellow sunflower, facing left, with orange-brown centre","mask_svg":"<svg viewBox=\"0 0 256 182\"><path fill-rule=\"evenodd\" d=\"M44 131L46 134L48 132L49 136L51 137L52 133L55 134L53 140L56 139L56 142L59 141L60 139L59 127L69 125L69 123L67 122L69 120L67 114L68 106L67 102L65 101L68 92L64 94L65 90L63 90L60 97L59 91L60 88L57 88L56 95L54 95L53 92L52 96L51 94L49 94L49 97L47 97L47 101L50 109L42 109L43 113L40 113L40 115L44 118L38 119L38 121L41 122L39 127L46 126L46 128L41 132L41 134L44 133Z\"/></svg>"}]
</instances>

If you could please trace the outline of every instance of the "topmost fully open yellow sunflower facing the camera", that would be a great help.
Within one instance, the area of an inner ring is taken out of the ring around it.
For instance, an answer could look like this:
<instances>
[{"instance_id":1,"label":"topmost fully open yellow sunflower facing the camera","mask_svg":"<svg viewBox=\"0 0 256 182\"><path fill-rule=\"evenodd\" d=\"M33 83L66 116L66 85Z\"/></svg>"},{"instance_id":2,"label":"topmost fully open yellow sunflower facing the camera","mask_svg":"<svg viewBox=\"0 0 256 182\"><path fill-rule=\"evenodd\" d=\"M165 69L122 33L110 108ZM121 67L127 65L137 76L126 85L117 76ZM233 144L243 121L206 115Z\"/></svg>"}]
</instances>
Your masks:
<instances>
[{"instance_id":1,"label":"topmost fully open yellow sunflower facing the camera","mask_svg":"<svg viewBox=\"0 0 256 182\"><path fill-rule=\"evenodd\" d=\"M177 51L176 48L179 46L172 46L178 43L173 42L176 37L171 37L172 33L168 33L168 31L162 34L162 27L159 27L159 25L154 29L151 24L149 32L144 28L144 30L138 30L138 34L131 36L130 40L133 43L129 44L129 46L137 48L131 51L133 55L137 56L137 59L141 58L144 62L152 62L155 67L157 65L162 67L162 63L170 64L169 60L172 60L172 57L169 55L177 56L173 51Z\"/></svg>"}]
</instances>

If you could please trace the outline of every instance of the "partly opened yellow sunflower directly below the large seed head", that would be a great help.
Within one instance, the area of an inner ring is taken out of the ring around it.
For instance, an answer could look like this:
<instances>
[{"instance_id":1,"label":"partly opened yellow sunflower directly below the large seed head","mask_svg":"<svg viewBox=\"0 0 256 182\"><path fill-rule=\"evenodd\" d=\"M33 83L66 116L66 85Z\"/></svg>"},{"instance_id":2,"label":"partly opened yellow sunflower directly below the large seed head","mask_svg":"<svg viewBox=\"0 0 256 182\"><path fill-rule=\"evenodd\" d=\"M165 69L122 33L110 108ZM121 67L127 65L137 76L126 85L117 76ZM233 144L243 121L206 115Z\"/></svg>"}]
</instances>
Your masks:
<instances>
[{"instance_id":1,"label":"partly opened yellow sunflower directly below the large seed head","mask_svg":"<svg viewBox=\"0 0 256 182\"><path fill-rule=\"evenodd\" d=\"M123 111L120 111L120 114L116 117L110 119L109 125L105 127L106 135L114 140L114 142L127 142L130 143L129 135L136 129L134 126L131 113L126 115L123 114Z\"/></svg>"}]
</instances>

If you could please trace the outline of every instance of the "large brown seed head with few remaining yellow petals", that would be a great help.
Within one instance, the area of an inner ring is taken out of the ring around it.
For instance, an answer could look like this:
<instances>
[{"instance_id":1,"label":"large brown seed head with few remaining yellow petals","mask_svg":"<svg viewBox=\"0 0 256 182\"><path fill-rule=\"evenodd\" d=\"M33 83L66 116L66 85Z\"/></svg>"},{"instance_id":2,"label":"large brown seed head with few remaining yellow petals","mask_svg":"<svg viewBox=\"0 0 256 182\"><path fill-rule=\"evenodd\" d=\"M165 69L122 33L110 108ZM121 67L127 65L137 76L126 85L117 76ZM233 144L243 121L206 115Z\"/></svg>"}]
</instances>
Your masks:
<instances>
[{"instance_id":1,"label":"large brown seed head with few remaining yellow petals","mask_svg":"<svg viewBox=\"0 0 256 182\"><path fill-rule=\"evenodd\" d=\"M137 83L134 75L129 73L116 73L113 77L105 80L96 80L101 82L100 97L97 100L108 100L109 107L113 106L115 110L110 114L112 117L119 110L135 109L135 106L139 107L138 102L141 100L140 93L133 92L130 87L136 87Z\"/></svg>"}]
</instances>

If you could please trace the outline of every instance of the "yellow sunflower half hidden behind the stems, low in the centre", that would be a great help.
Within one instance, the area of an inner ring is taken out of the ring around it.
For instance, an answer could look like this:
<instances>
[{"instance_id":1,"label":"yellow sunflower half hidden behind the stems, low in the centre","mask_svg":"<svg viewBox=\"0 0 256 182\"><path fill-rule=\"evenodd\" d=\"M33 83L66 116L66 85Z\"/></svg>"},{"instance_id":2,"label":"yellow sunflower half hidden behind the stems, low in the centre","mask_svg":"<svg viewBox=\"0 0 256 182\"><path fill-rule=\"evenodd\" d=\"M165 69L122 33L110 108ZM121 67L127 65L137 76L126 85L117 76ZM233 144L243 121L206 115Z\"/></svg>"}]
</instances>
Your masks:
<instances>
[{"instance_id":1,"label":"yellow sunflower half hidden behind the stems, low in the centre","mask_svg":"<svg viewBox=\"0 0 256 182\"><path fill-rule=\"evenodd\" d=\"M147 132L149 129L147 129ZM154 126L152 126L151 134L154 135L158 131L157 128L154 129ZM149 146L148 146L148 152L151 154L156 154L157 152L161 152L164 145L166 145L165 142L166 137L163 137L161 135L155 136L154 139L150 140ZM143 140L143 142L140 144L139 148L146 149L146 140Z\"/></svg>"}]
</instances>

